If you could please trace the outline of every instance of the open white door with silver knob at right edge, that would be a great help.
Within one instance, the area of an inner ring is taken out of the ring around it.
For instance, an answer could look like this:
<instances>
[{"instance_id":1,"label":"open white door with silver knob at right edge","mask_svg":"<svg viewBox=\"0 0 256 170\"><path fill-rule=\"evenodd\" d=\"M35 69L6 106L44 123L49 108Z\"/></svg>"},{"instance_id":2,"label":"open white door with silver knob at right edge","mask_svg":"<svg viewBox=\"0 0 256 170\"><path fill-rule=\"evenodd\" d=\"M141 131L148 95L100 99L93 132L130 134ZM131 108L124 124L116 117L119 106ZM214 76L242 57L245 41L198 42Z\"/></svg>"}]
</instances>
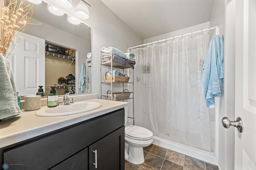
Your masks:
<instances>
[{"instance_id":1,"label":"open white door with silver knob at right edge","mask_svg":"<svg viewBox=\"0 0 256 170\"><path fill-rule=\"evenodd\" d=\"M235 170L256 170L256 1L236 1ZM233 121L233 120L232 120Z\"/></svg>"}]
</instances>

